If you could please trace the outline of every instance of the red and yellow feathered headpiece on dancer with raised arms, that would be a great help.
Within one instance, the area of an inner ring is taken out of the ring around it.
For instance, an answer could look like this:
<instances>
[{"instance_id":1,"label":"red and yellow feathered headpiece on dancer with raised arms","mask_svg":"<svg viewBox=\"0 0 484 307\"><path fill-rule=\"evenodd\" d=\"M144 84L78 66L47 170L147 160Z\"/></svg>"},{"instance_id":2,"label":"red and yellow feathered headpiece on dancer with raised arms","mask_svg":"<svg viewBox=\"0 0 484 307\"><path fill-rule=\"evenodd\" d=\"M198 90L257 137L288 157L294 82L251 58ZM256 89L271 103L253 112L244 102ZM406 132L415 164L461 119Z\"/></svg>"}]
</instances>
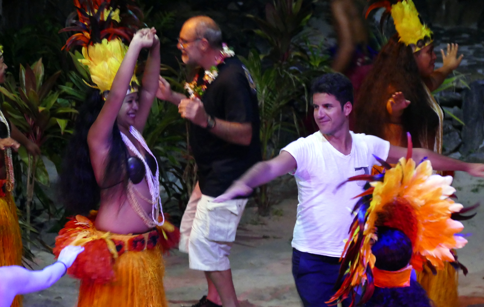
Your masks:
<instances>
[{"instance_id":1,"label":"red and yellow feathered headpiece on dancer with raised arms","mask_svg":"<svg viewBox=\"0 0 484 307\"><path fill-rule=\"evenodd\" d=\"M74 26L59 31L80 32L72 35L62 49L82 46L84 59L77 61L89 68L94 83L90 86L104 94L111 90L114 77L126 54L127 46L122 40L131 41L141 25L133 13L140 12L139 9L126 2L132 1L74 0L78 20L68 20ZM128 14L121 11L128 11ZM138 86L139 82L133 75L127 94L137 92Z\"/></svg>"}]
</instances>

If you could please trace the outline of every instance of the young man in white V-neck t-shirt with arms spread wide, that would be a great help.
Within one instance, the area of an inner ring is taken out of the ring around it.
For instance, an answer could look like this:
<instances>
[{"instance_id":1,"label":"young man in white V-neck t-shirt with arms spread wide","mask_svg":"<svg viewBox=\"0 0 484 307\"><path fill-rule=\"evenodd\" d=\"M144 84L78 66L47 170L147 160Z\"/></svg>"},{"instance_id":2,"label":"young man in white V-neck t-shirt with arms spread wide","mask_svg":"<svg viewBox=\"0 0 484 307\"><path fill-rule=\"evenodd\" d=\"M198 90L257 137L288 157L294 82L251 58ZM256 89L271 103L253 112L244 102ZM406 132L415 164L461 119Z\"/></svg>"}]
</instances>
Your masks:
<instances>
[{"instance_id":1,"label":"young man in white V-neck t-shirt with arms spread wide","mask_svg":"<svg viewBox=\"0 0 484 307\"><path fill-rule=\"evenodd\" d=\"M213 201L249 195L261 184L287 172L293 174L299 204L292 240L292 273L304 307L320 307L328 306L325 302L335 292L343 240L348 238L351 210L357 201L352 198L363 192L365 182L349 182L339 189L338 185L349 177L370 174L372 166L378 165L373 154L397 163L407 149L349 131L353 89L347 77L326 74L314 81L311 91L319 131L290 143L272 160L257 163ZM396 104L405 102L403 96L395 97ZM484 177L483 164L465 163L426 149L413 150L415 161L424 157L436 170L462 170Z\"/></svg>"}]
</instances>

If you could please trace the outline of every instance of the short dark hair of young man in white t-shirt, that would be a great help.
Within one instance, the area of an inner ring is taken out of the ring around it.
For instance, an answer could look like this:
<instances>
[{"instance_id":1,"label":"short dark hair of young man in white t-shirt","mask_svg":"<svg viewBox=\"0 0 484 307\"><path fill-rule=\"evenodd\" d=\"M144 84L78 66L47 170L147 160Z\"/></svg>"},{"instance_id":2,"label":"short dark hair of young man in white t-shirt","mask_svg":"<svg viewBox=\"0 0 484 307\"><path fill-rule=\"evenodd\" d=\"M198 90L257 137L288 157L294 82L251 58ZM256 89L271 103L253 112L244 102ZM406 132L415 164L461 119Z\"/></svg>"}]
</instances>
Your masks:
<instances>
[{"instance_id":1,"label":"short dark hair of young man in white t-shirt","mask_svg":"<svg viewBox=\"0 0 484 307\"><path fill-rule=\"evenodd\" d=\"M341 108L348 101L353 104L353 85L348 77L340 73L325 74L314 79L311 85L311 96L316 93L333 95L341 104Z\"/></svg>"}]
</instances>

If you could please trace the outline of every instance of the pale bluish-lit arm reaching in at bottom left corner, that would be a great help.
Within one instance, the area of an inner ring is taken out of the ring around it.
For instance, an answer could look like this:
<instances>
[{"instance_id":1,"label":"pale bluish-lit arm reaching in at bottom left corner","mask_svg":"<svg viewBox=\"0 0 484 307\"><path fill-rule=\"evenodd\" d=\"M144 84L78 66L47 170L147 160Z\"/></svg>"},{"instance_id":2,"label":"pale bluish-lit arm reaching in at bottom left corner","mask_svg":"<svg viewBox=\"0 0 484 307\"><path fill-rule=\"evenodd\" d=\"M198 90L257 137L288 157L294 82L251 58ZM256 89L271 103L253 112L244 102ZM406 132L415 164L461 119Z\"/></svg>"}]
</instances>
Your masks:
<instances>
[{"instance_id":1,"label":"pale bluish-lit arm reaching in at bottom left corner","mask_svg":"<svg viewBox=\"0 0 484 307\"><path fill-rule=\"evenodd\" d=\"M41 291L52 286L83 250L81 246L66 246L61 250L58 261L41 271L29 271L17 265L0 267L0 307L10 306L17 294Z\"/></svg>"}]
</instances>

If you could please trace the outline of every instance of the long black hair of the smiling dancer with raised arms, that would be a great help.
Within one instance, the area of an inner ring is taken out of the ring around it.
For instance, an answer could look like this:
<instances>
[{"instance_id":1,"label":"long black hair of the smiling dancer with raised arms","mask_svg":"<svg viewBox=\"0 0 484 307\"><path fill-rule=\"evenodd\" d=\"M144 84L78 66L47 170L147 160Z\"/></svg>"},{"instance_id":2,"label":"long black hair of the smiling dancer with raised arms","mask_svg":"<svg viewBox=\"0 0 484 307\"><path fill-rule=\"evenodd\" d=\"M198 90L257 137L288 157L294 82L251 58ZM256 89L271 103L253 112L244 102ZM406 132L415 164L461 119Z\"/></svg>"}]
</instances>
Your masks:
<instances>
[{"instance_id":1,"label":"long black hair of the smiling dancer with raised arms","mask_svg":"<svg viewBox=\"0 0 484 307\"><path fill-rule=\"evenodd\" d=\"M79 111L74 134L64 153L58 186L60 200L70 214L88 214L90 210L97 209L102 189L115 186L126 188L125 170L128 151L121 138L117 122L113 125L101 187L92 169L88 133L103 105L101 93L93 89ZM112 189L109 190L112 191Z\"/></svg>"}]
</instances>

